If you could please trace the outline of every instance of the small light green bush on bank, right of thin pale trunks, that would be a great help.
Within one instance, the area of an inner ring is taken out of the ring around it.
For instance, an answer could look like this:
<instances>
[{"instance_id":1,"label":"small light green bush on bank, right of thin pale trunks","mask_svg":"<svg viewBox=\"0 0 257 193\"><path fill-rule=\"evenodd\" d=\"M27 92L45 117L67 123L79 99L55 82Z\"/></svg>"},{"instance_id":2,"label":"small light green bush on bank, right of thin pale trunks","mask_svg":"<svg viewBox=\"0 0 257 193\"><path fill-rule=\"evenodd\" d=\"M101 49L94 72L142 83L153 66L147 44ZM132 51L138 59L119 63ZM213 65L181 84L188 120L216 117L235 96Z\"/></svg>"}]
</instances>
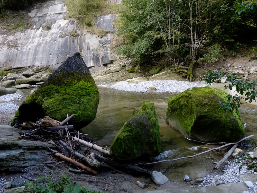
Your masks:
<instances>
[{"instance_id":1,"label":"small light green bush on bank, right of thin pale trunks","mask_svg":"<svg viewBox=\"0 0 257 193\"><path fill-rule=\"evenodd\" d=\"M210 63L219 61L218 57L221 57L222 48L219 43L214 43L213 45L207 47L205 49L205 55L197 60L198 63Z\"/></svg>"}]
</instances>

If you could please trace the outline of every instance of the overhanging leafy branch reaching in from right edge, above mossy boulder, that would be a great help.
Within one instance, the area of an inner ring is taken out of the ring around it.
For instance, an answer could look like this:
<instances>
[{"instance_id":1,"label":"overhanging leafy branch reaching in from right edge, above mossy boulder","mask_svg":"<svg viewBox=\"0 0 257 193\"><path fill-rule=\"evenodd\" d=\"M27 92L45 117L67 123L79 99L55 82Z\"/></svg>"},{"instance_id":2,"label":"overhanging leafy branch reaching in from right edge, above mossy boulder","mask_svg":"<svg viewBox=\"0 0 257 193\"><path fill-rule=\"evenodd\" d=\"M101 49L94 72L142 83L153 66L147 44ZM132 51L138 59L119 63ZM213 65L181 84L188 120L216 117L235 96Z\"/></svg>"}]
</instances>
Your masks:
<instances>
[{"instance_id":1,"label":"overhanging leafy branch reaching in from right edge, above mossy boulder","mask_svg":"<svg viewBox=\"0 0 257 193\"><path fill-rule=\"evenodd\" d=\"M257 79L252 80L251 82L241 81L238 80L235 76L229 75L228 72L225 73L222 71L213 70L205 72L202 76L202 79L204 79L207 83L210 84L212 82L215 82L215 80L217 79L221 79L222 77L225 77L226 81L231 82L228 86L225 86L225 89L228 88L232 90L232 88L235 87L236 92L241 96L237 94L235 96L228 94L227 102L224 103L223 101L219 101L219 103L221 104L221 108L224 108L225 110L232 112L236 106L241 106L241 100L248 101L249 103L251 103L252 101L256 102L255 98L257 96L257 89L255 88L255 86L257 86Z\"/></svg>"}]
</instances>

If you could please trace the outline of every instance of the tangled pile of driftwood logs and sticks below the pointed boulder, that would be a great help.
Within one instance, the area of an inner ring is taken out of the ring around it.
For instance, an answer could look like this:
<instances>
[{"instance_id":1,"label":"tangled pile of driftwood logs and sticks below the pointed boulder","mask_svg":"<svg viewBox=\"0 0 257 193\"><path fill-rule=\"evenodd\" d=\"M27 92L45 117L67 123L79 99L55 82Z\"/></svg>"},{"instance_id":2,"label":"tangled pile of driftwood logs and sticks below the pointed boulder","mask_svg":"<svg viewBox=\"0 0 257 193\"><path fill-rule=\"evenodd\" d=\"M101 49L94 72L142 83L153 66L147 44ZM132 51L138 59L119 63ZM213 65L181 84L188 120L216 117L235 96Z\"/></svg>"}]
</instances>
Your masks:
<instances>
[{"instance_id":1,"label":"tangled pile of driftwood logs and sticks below the pointed boulder","mask_svg":"<svg viewBox=\"0 0 257 193\"><path fill-rule=\"evenodd\" d=\"M22 128L29 130L20 131L20 138L37 139L55 145L56 150L48 147L52 151L52 156L55 159L57 158L71 163L73 166L73 168L69 169L71 172L96 174L97 171L104 168L118 173L129 171L151 175L152 171L136 165L114 161L112 159L112 151L100 147L96 143L91 143L90 138L86 134L79 133L72 125L68 125L68 121L73 117L74 115L67 117L62 122L53 120L50 117L44 117L36 123L27 121L22 124ZM97 153L93 153L92 150ZM49 165L50 162L46 162L45 164Z\"/></svg>"}]
</instances>

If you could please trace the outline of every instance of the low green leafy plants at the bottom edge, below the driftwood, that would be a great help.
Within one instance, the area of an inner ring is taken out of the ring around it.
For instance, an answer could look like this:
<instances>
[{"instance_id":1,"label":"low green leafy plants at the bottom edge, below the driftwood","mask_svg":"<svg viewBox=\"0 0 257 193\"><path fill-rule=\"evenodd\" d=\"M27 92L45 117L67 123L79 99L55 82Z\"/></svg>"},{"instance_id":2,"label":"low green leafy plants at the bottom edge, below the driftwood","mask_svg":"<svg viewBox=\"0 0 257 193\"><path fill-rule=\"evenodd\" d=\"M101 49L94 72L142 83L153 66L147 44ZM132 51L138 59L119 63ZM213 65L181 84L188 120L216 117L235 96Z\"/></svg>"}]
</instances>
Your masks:
<instances>
[{"instance_id":1,"label":"low green leafy plants at the bottom edge, below the driftwood","mask_svg":"<svg viewBox=\"0 0 257 193\"><path fill-rule=\"evenodd\" d=\"M69 175L62 174L61 181L55 182L52 175L47 177L40 176L35 182L26 181L25 190L29 193L100 193L87 190L68 177Z\"/></svg>"}]
</instances>

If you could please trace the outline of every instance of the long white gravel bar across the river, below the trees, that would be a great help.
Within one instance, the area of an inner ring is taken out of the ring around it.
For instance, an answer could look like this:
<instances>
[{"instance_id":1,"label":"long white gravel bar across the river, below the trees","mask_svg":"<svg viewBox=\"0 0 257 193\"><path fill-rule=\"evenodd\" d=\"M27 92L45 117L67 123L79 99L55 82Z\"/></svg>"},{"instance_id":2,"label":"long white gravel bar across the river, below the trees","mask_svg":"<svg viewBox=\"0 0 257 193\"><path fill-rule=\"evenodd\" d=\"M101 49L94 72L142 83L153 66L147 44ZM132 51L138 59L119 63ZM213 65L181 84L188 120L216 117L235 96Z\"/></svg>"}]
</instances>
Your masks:
<instances>
[{"instance_id":1,"label":"long white gravel bar across the river, below the trees","mask_svg":"<svg viewBox=\"0 0 257 193\"><path fill-rule=\"evenodd\" d=\"M204 87L209 86L209 84L205 83L204 81L188 82L176 80L157 80L130 84L114 84L111 86L111 88L130 92L147 92L151 86L156 88L155 92L183 92L192 87Z\"/></svg>"}]
</instances>

